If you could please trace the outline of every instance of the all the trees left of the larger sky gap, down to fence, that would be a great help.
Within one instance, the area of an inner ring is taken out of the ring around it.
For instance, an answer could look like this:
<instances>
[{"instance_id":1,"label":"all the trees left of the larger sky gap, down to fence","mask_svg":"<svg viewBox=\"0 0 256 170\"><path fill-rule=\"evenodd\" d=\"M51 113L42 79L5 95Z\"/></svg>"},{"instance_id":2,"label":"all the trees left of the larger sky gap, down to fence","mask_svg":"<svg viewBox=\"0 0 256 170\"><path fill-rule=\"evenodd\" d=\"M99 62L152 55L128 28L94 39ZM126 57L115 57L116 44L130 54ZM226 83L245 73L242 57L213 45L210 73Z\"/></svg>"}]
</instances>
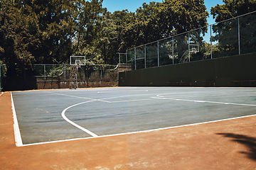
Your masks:
<instances>
[{"instance_id":1,"label":"all the trees left of the larger sky gap, down to fence","mask_svg":"<svg viewBox=\"0 0 256 170\"><path fill-rule=\"evenodd\" d=\"M81 39L81 47L92 46L101 4L102 0L0 1L1 60L13 74L32 71L34 63L67 63L80 50Z\"/></svg>"}]
</instances>

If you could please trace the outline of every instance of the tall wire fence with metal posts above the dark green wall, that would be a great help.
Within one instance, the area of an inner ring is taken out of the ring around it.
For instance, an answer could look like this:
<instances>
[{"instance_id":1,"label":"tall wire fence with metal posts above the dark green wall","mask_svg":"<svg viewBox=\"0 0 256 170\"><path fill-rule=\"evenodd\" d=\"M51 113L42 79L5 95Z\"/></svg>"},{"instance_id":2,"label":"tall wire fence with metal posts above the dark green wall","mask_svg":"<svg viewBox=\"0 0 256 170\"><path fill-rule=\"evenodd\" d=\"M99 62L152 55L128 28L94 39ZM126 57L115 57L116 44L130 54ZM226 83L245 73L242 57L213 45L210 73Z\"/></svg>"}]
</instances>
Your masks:
<instances>
[{"instance_id":1,"label":"tall wire fence with metal posts above the dark green wall","mask_svg":"<svg viewBox=\"0 0 256 170\"><path fill-rule=\"evenodd\" d=\"M251 52L256 52L256 11L134 47L119 54L119 64L143 69Z\"/></svg>"}]
</instances>

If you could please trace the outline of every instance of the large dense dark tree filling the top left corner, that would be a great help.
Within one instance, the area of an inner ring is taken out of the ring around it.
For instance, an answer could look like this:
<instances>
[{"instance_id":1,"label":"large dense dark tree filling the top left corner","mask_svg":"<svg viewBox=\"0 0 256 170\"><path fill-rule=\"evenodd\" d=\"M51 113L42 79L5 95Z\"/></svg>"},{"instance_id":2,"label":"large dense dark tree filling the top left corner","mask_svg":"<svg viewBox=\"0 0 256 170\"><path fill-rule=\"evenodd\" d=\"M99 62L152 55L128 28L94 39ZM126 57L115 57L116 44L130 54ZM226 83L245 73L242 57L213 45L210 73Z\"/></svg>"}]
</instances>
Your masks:
<instances>
[{"instance_id":1,"label":"large dense dark tree filling the top left corner","mask_svg":"<svg viewBox=\"0 0 256 170\"><path fill-rule=\"evenodd\" d=\"M31 72L35 62L66 60L67 53L71 54L73 25L65 13L65 4L65 1L1 1L2 19L8 21L2 22L1 28L9 30L4 37L12 42L5 48L12 48L13 55L7 51L2 54L8 72L21 75L26 70Z\"/></svg>"}]
</instances>

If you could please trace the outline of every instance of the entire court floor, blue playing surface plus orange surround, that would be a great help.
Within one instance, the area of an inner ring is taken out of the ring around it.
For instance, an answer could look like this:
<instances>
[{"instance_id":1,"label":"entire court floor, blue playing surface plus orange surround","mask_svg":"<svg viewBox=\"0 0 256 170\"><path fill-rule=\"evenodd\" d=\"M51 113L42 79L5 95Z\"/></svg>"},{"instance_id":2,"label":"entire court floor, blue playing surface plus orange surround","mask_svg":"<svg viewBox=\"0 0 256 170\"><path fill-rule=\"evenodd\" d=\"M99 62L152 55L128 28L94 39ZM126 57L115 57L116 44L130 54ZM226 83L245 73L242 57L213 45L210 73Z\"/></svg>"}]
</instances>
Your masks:
<instances>
[{"instance_id":1,"label":"entire court floor, blue playing surface plus orange surround","mask_svg":"<svg viewBox=\"0 0 256 170\"><path fill-rule=\"evenodd\" d=\"M255 169L255 92L181 87L4 92L1 169Z\"/></svg>"}]
</instances>

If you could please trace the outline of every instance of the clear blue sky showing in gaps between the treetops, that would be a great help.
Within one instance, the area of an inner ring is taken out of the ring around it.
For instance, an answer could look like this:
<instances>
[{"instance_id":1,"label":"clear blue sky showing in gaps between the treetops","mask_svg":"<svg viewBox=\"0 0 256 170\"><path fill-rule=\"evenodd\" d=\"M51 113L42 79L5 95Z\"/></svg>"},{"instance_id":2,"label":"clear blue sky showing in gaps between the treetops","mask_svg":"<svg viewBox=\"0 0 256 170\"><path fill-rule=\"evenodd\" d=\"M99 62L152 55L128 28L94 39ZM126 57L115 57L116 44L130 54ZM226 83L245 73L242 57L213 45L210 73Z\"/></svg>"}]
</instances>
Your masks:
<instances>
[{"instance_id":1,"label":"clear blue sky showing in gaps between the treetops","mask_svg":"<svg viewBox=\"0 0 256 170\"><path fill-rule=\"evenodd\" d=\"M124 9L128 9L128 11L135 12L137 8L142 6L145 2L149 4L149 2L162 2L162 0L103 0L103 7L107 8L107 11L114 12L114 11L122 11ZM208 13L210 14L210 8L216 6L217 4L222 5L222 0L205 0L205 5L207 8ZM215 23L213 16L208 18L208 24Z\"/></svg>"}]
</instances>

